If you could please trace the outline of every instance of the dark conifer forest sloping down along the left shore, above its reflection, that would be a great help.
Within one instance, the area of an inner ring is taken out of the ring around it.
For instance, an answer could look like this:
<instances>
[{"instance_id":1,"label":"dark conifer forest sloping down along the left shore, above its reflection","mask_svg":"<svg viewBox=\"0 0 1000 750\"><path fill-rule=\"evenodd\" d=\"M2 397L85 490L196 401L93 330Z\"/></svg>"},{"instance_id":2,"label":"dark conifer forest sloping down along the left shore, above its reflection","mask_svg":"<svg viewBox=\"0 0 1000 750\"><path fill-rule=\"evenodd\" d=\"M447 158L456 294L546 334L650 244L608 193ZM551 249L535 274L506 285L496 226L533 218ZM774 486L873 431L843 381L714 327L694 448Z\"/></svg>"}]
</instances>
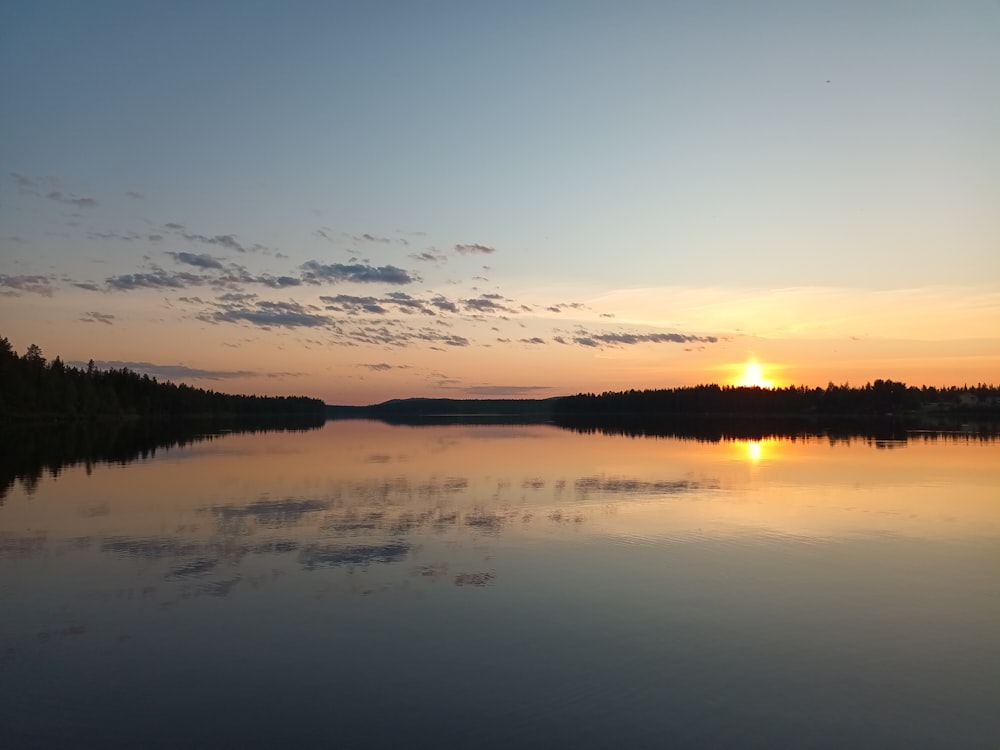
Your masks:
<instances>
[{"instance_id":1,"label":"dark conifer forest sloping down along the left shore, above its reflection","mask_svg":"<svg viewBox=\"0 0 1000 750\"><path fill-rule=\"evenodd\" d=\"M6 422L97 418L308 417L325 404L304 396L242 396L160 382L127 367L102 370L48 361L36 344L18 355L0 338L0 419Z\"/></svg>"}]
</instances>

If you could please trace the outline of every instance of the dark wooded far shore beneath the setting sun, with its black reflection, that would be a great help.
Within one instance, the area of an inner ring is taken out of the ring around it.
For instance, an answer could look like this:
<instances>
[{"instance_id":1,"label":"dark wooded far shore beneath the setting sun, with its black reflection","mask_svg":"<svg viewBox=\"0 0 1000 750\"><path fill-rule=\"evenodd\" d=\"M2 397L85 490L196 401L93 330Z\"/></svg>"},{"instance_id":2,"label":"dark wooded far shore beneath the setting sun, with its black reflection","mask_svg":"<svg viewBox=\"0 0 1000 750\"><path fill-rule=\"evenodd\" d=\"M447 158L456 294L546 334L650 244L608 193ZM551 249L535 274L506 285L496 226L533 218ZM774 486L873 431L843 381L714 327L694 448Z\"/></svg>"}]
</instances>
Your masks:
<instances>
[{"instance_id":1,"label":"dark wooded far shore beneath the setting sun, with its black reflection","mask_svg":"<svg viewBox=\"0 0 1000 750\"><path fill-rule=\"evenodd\" d=\"M327 406L326 415L410 425L554 424L634 435L995 433L1000 393L988 386L917 389L892 381L857 389L696 386L548 399L394 399Z\"/></svg>"}]
</instances>

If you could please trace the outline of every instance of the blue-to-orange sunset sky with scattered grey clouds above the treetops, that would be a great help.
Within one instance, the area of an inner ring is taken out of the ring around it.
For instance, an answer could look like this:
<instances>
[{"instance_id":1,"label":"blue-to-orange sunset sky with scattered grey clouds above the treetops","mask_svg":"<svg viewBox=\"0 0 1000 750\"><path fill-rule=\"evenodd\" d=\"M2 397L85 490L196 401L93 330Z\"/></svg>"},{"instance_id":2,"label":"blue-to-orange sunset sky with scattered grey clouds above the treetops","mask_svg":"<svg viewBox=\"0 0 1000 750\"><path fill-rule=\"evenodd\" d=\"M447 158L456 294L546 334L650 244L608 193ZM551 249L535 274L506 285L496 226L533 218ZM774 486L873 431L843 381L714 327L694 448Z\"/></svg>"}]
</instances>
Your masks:
<instances>
[{"instance_id":1,"label":"blue-to-orange sunset sky with scattered grey clouds above the treetops","mask_svg":"<svg viewBox=\"0 0 1000 750\"><path fill-rule=\"evenodd\" d=\"M997 39L996 0L2 3L0 336L337 404L997 384Z\"/></svg>"}]
</instances>

